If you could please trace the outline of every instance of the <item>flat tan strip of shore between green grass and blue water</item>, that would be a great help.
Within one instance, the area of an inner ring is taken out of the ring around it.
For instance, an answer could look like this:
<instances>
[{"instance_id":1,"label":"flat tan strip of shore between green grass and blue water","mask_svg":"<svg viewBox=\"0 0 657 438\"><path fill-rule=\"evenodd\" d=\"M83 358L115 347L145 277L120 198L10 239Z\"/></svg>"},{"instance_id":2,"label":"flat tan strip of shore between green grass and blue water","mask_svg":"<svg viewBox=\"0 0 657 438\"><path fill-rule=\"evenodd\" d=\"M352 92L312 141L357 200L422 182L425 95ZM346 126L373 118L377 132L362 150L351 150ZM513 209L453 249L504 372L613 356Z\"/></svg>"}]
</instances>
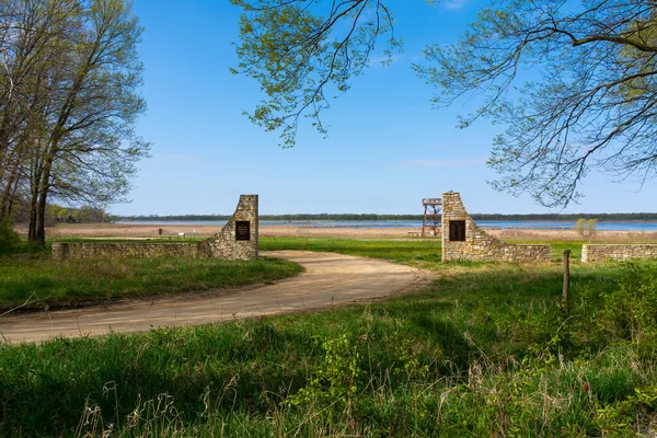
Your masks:
<instances>
[{"instance_id":1,"label":"flat tan strip of shore between green grass and blue water","mask_svg":"<svg viewBox=\"0 0 657 438\"><path fill-rule=\"evenodd\" d=\"M26 234L25 227L16 227ZM153 239L160 235L177 239L184 232L187 237L209 237L221 229L219 226L161 226L126 223L62 223L46 230L51 238L104 238L104 239ZM492 235L503 240L526 241L591 241L591 242L657 242L657 232L641 231L599 231L591 237L583 237L574 230L538 229L486 229ZM422 228L343 228L343 227L302 227L302 226L261 226L260 234L268 238L349 238L349 239L415 239L422 234ZM439 239L437 237L436 239Z\"/></svg>"}]
</instances>

